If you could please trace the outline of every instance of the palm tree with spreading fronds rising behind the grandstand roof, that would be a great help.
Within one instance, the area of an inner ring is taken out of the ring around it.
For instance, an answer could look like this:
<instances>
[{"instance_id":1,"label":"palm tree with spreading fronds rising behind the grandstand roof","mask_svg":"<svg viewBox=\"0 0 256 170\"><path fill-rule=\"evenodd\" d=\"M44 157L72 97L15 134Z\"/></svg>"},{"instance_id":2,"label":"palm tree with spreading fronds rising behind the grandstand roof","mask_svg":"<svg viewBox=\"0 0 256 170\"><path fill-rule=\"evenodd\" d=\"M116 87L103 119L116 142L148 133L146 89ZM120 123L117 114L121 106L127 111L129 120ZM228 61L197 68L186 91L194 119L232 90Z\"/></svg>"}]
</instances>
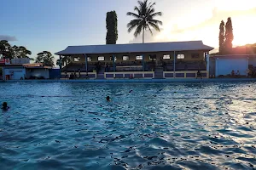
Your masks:
<instances>
[{"instance_id":1,"label":"palm tree with spreading fronds rising behind the grandstand roof","mask_svg":"<svg viewBox=\"0 0 256 170\"><path fill-rule=\"evenodd\" d=\"M161 12L155 12L154 5L155 3L148 3L148 0L138 1L138 7L135 7L134 10L137 14L128 12L127 15L133 16L136 19L131 20L128 24L128 32L131 32L133 29L136 28L134 32L134 36L137 37L143 31L143 43L144 43L144 33L145 30L149 30L151 35L153 32L151 28L154 28L156 31L160 31L159 25L163 23L160 20L154 20L155 16L161 16Z\"/></svg>"}]
</instances>

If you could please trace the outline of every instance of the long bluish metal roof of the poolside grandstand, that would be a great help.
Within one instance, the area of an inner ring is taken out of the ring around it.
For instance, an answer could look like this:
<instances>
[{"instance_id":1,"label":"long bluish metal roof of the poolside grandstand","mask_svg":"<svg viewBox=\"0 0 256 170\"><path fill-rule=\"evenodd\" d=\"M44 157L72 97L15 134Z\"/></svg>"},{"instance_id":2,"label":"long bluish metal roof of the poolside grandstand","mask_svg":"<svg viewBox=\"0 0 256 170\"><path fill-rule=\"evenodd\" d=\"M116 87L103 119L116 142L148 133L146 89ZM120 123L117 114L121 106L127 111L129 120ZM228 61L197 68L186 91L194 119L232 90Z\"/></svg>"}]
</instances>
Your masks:
<instances>
[{"instance_id":1,"label":"long bluish metal roof of the poolside grandstand","mask_svg":"<svg viewBox=\"0 0 256 170\"><path fill-rule=\"evenodd\" d=\"M68 46L65 50L57 52L57 55L72 54L119 54L119 53L147 53L203 50L211 51L213 48L204 45L202 41L190 42L152 42L152 43L128 43L107 45Z\"/></svg>"}]
</instances>

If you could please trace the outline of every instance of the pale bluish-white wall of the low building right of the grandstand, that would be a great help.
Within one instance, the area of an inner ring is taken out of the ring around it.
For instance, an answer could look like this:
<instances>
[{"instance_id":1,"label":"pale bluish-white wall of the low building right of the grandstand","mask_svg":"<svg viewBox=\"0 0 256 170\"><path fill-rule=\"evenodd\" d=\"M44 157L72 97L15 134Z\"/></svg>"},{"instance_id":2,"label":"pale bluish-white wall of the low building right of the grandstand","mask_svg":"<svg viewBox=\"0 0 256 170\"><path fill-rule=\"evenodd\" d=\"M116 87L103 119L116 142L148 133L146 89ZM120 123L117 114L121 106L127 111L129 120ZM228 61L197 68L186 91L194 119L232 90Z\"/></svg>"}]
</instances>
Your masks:
<instances>
[{"instance_id":1,"label":"pale bluish-white wall of the low building right of the grandstand","mask_svg":"<svg viewBox=\"0 0 256 170\"><path fill-rule=\"evenodd\" d=\"M218 77L219 75L229 75L231 71L239 71L240 75L247 75L248 69L248 59L247 58L218 58L216 59L216 69L215 69L215 76Z\"/></svg>"}]
</instances>

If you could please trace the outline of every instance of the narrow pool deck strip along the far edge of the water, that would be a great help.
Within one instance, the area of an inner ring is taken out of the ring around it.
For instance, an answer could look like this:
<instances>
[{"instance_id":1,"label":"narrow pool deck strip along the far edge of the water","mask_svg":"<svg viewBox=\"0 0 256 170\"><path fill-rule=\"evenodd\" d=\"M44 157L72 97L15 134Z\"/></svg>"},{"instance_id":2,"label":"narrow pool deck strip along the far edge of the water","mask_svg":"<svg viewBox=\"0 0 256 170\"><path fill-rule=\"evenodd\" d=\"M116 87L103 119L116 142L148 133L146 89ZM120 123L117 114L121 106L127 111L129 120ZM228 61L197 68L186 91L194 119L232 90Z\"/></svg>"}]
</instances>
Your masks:
<instances>
[{"instance_id":1,"label":"narrow pool deck strip along the far edge of the water","mask_svg":"<svg viewBox=\"0 0 256 170\"><path fill-rule=\"evenodd\" d=\"M0 82L84 82L84 83L172 83L172 82L256 82L256 78L212 78L212 79L112 79L112 80L9 80Z\"/></svg>"}]
</instances>

